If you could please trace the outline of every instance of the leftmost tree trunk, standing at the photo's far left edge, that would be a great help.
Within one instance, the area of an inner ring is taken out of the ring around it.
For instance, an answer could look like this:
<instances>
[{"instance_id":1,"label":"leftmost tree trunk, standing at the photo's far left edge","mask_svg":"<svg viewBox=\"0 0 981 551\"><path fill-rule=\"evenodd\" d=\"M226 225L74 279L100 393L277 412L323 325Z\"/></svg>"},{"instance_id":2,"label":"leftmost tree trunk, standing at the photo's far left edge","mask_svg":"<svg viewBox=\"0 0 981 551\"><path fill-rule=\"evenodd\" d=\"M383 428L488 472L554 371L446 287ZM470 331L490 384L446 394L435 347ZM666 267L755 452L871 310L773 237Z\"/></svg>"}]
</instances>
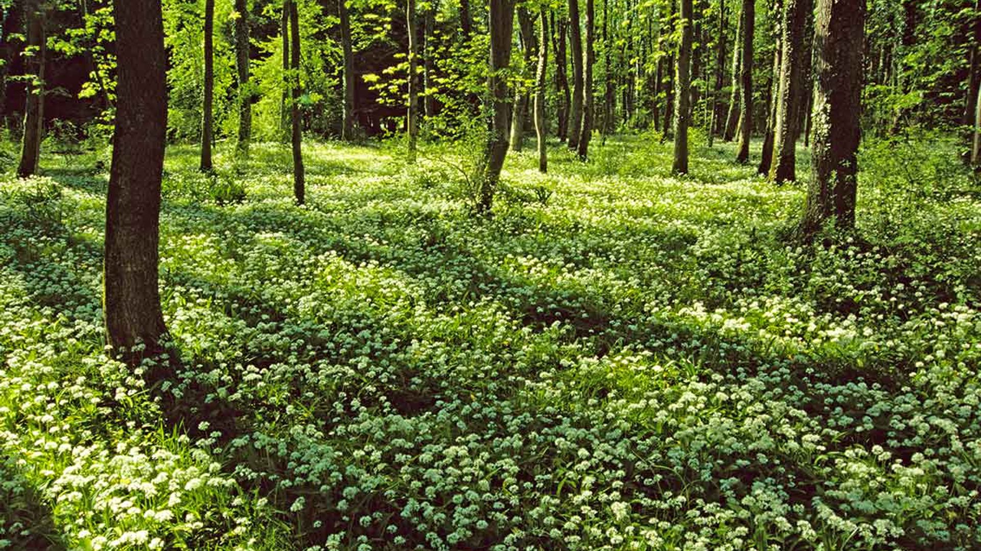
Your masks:
<instances>
[{"instance_id":1,"label":"leftmost tree trunk, standing at the photo's far left edge","mask_svg":"<svg viewBox=\"0 0 981 551\"><path fill-rule=\"evenodd\" d=\"M24 110L24 135L21 142L21 163L18 177L37 174L41 156L41 134L44 131L44 64L47 57L47 37L44 32L44 7L37 0L26 2L28 75Z\"/></svg>"}]
</instances>

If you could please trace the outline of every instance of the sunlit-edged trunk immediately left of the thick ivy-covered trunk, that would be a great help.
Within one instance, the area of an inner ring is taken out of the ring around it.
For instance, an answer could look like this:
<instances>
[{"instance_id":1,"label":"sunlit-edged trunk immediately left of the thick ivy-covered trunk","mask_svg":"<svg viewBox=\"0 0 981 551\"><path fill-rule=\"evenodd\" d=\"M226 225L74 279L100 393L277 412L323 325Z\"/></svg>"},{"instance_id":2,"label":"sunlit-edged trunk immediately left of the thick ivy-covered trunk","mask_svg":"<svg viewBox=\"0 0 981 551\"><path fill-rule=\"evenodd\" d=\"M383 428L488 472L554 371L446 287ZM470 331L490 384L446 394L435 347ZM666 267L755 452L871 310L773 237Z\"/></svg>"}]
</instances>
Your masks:
<instances>
[{"instance_id":1,"label":"sunlit-edged trunk immediately left of the thick ivy-covered trunk","mask_svg":"<svg viewBox=\"0 0 981 551\"><path fill-rule=\"evenodd\" d=\"M800 104L803 103L803 29L807 12L812 11L809 0L784 0L784 23L781 28L783 59L780 66L780 97L777 107L777 126L774 136L773 167L770 179L778 183L797 179L797 138L799 135Z\"/></svg>"}]
</instances>

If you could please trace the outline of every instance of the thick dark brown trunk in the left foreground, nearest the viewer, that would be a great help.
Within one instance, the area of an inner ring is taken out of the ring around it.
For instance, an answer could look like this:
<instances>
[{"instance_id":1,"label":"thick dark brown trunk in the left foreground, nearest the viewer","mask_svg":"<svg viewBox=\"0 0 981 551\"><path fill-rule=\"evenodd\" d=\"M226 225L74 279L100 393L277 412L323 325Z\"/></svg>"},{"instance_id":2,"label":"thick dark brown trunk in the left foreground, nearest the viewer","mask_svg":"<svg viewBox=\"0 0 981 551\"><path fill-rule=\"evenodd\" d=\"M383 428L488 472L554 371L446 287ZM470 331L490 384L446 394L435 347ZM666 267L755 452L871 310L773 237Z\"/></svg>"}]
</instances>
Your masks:
<instances>
[{"instance_id":1,"label":"thick dark brown trunk in the left foreground, nearest the viewer","mask_svg":"<svg viewBox=\"0 0 981 551\"><path fill-rule=\"evenodd\" d=\"M106 336L130 365L161 351L160 188L167 136L167 52L161 4L115 0L117 83L106 199ZM142 343L140 349L137 344Z\"/></svg>"}]
</instances>

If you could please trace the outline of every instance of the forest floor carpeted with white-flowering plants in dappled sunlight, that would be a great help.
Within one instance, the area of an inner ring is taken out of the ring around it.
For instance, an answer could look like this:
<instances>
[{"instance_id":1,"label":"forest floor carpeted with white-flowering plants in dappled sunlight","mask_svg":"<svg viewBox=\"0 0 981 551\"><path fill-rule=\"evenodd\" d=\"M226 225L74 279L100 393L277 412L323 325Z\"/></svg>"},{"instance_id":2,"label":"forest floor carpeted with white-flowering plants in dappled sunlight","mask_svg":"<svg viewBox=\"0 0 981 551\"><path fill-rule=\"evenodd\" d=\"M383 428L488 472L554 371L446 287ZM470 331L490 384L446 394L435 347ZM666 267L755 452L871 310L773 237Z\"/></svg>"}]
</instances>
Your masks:
<instances>
[{"instance_id":1,"label":"forest floor carpeted with white-flowering plants in dappled sunlight","mask_svg":"<svg viewBox=\"0 0 981 551\"><path fill-rule=\"evenodd\" d=\"M281 145L169 150L155 389L104 349L107 154L0 177L0 548L981 547L951 144L866 145L817 246L730 144L529 146L491 220L460 149L396 145L307 145L302 208Z\"/></svg>"}]
</instances>

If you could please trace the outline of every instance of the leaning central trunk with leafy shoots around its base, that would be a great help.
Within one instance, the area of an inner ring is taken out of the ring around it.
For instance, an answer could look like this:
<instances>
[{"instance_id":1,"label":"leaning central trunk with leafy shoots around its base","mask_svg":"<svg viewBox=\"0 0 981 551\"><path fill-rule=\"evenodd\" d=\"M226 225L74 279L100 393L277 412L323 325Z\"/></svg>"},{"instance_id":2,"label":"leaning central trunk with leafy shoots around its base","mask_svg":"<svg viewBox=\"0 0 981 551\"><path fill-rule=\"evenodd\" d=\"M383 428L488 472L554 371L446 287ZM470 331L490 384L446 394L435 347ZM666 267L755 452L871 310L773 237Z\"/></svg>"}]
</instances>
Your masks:
<instances>
[{"instance_id":1,"label":"leaning central trunk with leafy shoots around its base","mask_svg":"<svg viewBox=\"0 0 981 551\"><path fill-rule=\"evenodd\" d=\"M488 16L490 31L490 76L488 87L493 114L490 135L484 159L477 176L480 189L477 197L477 213L490 215L493 194L500 180L500 170L507 156L508 98L507 70L511 63L511 35L514 32L514 4L512 0L490 0Z\"/></svg>"}]
</instances>

